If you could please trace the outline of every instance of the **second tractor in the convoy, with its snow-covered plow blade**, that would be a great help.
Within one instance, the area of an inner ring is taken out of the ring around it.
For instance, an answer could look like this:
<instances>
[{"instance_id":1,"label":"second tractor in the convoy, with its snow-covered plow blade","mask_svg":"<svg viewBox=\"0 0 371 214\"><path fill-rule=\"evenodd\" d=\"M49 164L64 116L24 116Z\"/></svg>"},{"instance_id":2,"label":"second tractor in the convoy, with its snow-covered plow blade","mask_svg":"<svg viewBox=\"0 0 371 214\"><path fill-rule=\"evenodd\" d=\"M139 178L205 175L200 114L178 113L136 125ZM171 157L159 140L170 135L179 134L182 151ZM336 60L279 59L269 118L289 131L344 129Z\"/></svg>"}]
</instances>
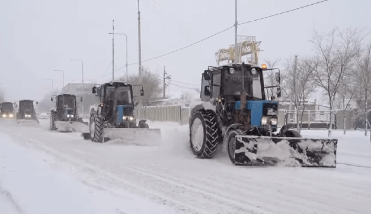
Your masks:
<instances>
[{"instance_id":1,"label":"second tractor in the convoy, with its snow-covered plow blade","mask_svg":"<svg viewBox=\"0 0 371 214\"><path fill-rule=\"evenodd\" d=\"M131 84L110 82L96 86L92 92L98 102L91 107L89 130L82 133L85 139L98 143L112 139L140 141L140 144L159 143L160 129L150 129L146 120L136 123ZM141 96L144 96L143 87Z\"/></svg>"}]
</instances>

